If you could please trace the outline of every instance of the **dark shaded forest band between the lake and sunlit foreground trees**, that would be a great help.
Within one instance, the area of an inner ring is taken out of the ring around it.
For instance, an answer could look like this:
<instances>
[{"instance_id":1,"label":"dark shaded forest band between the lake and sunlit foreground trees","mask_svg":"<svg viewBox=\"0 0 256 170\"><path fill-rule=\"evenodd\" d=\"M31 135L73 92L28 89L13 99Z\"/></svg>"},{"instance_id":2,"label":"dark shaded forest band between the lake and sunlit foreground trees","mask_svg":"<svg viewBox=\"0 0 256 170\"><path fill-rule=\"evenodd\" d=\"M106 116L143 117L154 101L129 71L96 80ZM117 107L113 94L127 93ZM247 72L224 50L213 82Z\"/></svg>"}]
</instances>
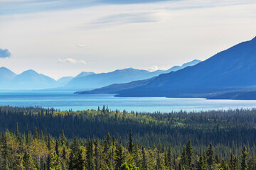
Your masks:
<instances>
[{"instance_id":1,"label":"dark shaded forest band between the lake and sunlit foreground trees","mask_svg":"<svg viewBox=\"0 0 256 170\"><path fill-rule=\"evenodd\" d=\"M0 131L8 128L15 132L18 123L20 135L25 132L26 142L30 142L33 139L29 135L31 132L38 138L42 137L42 132L36 132L36 129L47 129L50 135L59 137L59 145L67 145L67 138L102 139L108 132L117 139L122 137L124 142L129 142L127 132L132 129L132 142L144 147L171 145L175 150L179 149L177 152L181 152L181 145L191 140L194 149L205 147L211 142L215 146L215 153L223 153L218 149L220 145L229 146L233 150L244 144L256 145L255 113L256 109L200 113L127 113L109 111L106 107L99 111L58 111L50 108L0 106ZM227 149L230 148L222 148L229 152ZM221 157L226 155L222 154Z\"/></svg>"}]
</instances>

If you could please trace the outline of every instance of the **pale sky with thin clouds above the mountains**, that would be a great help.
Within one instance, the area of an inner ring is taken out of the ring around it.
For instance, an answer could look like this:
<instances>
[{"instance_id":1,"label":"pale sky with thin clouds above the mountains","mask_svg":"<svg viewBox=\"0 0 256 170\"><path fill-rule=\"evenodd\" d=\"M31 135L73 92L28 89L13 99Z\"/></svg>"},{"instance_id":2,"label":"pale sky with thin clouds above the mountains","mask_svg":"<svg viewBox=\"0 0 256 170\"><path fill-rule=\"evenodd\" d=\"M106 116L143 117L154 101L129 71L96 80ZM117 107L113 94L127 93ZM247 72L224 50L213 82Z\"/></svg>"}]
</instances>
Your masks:
<instances>
[{"instance_id":1,"label":"pale sky with thin clouds above the mountains","mask_svg":"<svg viewBox=\"0 0 256 170\"><path fill-rule=\"evenodd\" d=\"M255 0L0 0L0 67L169 69L256 36Z\"/></svg>"}]
</instances>

